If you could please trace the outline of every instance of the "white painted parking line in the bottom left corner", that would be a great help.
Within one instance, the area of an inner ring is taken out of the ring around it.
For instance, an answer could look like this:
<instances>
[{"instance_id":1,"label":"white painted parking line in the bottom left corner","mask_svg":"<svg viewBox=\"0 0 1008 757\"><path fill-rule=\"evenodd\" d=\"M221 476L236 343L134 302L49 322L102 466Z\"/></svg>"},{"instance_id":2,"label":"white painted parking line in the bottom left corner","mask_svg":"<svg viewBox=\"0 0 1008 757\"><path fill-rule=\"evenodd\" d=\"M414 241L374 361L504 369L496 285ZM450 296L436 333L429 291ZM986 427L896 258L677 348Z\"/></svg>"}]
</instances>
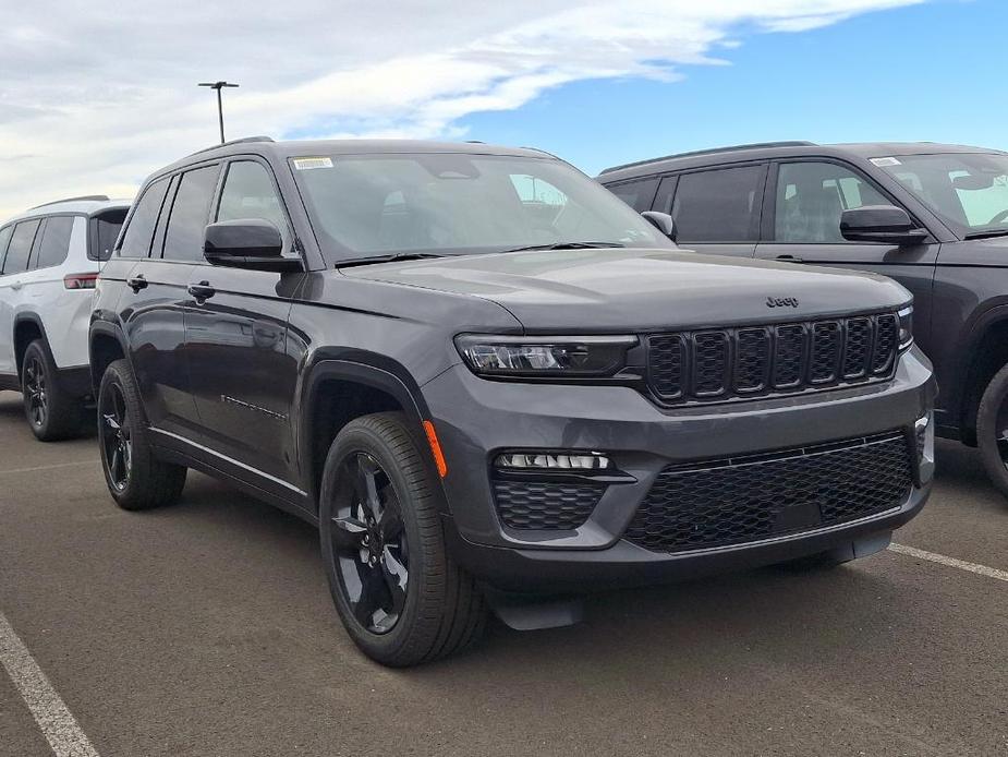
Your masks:
<instances>
[{"instance_id":1,"label":"white painted parking line in the bottom left corner","mask_svg":"<svg viewBox=\"0 0 1008 757\"><path fill-rule=\"evenodd\" d=\"M0 663L3 663L57 757L98 757L95 747L3 613L0 613Z\"/></svg>"}]
</instances>

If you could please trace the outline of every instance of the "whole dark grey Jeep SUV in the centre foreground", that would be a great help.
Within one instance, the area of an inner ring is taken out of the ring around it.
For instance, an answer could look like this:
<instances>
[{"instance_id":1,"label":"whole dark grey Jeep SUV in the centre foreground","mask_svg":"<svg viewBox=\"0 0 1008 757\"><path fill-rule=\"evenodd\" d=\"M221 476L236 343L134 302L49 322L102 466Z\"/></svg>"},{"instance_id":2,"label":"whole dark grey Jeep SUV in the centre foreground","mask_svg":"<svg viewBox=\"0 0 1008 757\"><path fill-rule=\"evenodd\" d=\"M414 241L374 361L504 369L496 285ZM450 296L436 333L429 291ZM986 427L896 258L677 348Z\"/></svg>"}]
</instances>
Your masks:
<instances>
[{"instance_id":1,"label":"whole dark grey Jeep SUV in the centre foreground","mask_svg":"<svg viewBox=\"0 0 1008 757\"><path fill-rule=\"evenodd\" d=\"M320 528L405 665L573 620L534 594L888 544L933 471L931 367L881 276L678 252L563 161L420 142L215 147L143 187L98 281L101 459Z\"/></svg>"}]
</instances>

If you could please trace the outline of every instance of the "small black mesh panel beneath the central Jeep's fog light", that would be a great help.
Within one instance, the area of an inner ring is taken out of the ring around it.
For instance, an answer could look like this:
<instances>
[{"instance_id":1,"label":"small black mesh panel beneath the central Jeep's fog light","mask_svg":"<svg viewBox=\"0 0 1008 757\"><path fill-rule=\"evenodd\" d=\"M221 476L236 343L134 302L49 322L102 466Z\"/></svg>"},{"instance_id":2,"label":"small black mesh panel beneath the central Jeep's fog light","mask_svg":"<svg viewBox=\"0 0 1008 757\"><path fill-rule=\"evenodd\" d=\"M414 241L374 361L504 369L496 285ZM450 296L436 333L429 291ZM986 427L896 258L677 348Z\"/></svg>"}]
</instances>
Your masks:
<instances>
[{"instance_id":1,"label":"small black mesh panel beneath the central Jeep's fog light","mask_svg":"<svg viewBox=\"0 0 1008 757\"><path fill-rule=\"evenodd\" d=\"M494 481L501 522L522 530L575 529L588 519L605 491L606 484L591 481Z\"/></svg>"}]
</instances>

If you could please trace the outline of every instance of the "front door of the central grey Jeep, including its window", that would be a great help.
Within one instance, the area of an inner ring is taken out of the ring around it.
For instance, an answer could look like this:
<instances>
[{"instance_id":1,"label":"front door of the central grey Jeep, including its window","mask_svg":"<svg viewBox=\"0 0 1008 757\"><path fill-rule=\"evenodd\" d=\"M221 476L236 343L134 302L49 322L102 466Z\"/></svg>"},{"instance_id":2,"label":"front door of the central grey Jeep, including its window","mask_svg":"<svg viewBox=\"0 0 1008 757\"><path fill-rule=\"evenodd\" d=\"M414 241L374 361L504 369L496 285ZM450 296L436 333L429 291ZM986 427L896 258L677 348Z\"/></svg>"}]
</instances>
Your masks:
<instances>
[{"instance_id":1,"label":"front door of the central grey Jeep, including its window","mask_svg":"<svg viewBox=\"0 0 1008 757\"><path fill-rule=\"evenodd\" d=\"M288 217L265 161L243 157L228 164L211 221L268 220L280 229L284 254L296 257ZM296 459L290 411L297 362L287 349L287 324L303 280L303 273L228 268L201 260L190 284L204 297L185 317L185 352L205 443L281 482L293 480ZM282 484L277 493L290 494Z\"/></svg>"}]
</instances>

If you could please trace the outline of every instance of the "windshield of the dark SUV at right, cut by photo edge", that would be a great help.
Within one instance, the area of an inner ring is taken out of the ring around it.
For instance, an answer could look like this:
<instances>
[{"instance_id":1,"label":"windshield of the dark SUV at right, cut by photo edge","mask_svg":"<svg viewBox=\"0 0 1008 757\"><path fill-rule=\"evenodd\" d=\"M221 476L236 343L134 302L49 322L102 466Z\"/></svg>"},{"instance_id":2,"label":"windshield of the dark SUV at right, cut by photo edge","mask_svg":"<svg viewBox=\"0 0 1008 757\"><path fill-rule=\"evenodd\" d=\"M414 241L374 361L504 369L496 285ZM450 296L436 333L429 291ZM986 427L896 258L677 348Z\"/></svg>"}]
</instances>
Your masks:
<instances>
[{"instance_id":1,"label":"windshield of the dark SUV at right, cut by photo edge","mask_svg":"<svg viewBox=\"0 0 1008 757\"><path fill-rule=\"evenodd\" d=\"M1008 155L946 153L873 158L960 237L1008 233Z\"/></svg>"}]
</instances>

